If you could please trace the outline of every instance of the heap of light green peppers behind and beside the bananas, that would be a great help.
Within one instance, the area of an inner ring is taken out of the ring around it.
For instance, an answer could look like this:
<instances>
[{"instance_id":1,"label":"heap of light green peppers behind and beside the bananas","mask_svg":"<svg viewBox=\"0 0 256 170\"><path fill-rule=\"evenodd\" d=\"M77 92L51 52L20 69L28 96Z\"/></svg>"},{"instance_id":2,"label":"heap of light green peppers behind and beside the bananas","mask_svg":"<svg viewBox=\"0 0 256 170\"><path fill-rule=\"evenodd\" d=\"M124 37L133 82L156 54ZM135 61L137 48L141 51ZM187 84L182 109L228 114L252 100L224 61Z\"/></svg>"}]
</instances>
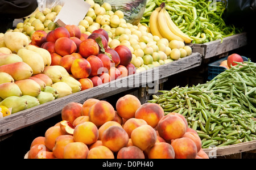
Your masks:
<instances>
[{"instance_id":1,"label":"heap of light green peppers behind and beside the bananas","mask_svg":"<svg viewBox=\"0 0 256 170\"><path fill-rule=\"evenodd\" d=\"M148 0L141 23L149 23L153 10L159 7L163 0ZM174 23L193 39L192 43L219 40L224 37L241 33L241 28L226 25L222 15L226 9L226 1L208 0L167 0L166 10Z\"/></svg>"}]
</instances>

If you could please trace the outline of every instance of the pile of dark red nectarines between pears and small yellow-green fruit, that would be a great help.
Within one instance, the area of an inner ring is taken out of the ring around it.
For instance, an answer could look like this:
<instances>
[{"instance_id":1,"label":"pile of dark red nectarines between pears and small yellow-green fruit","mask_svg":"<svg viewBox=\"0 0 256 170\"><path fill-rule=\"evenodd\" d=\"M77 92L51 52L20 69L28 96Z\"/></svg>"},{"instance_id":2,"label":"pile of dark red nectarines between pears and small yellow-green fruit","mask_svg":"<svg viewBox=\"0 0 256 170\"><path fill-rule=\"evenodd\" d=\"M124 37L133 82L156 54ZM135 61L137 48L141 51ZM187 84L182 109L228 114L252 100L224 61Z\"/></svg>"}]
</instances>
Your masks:
<instances>
[{"instance_id":1,"label":"pile of dark red nectarines between pears and small yellow-green fruit","mask_svg":"<svg viewBox=\"0 0 256 170\"><path fill-rule=\"evenodd\" d=\"M35 31L31 44L47 49L51 65L63 66L85 90L136 73L130 49L109 48L108 40L102 28L86 35L77 25L65 25L48 33Z\"/></svg>"}]
</instances>

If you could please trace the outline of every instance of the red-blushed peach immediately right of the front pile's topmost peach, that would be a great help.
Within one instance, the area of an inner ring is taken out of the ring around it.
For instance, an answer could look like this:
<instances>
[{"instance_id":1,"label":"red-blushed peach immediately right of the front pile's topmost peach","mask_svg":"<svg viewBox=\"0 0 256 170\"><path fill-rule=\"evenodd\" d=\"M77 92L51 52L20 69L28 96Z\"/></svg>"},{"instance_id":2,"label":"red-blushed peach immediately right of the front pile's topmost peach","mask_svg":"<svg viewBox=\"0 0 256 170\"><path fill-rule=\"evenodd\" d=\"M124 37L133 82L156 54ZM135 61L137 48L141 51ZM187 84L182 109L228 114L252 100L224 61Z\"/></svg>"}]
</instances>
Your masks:
<instances>
[{"instance_id":1,"label":"red-blushed peach immediately right of the front pile's topmost peach","mask_svg":"<svg viewBox=\"0 0 256 170\"><path fill-rule=\"evenodd\" d=\"M135 118L141 118L147 122L148 125L155 128L159 120L164 116L163 108L156 103L144 103L135 112Z\"/></svg>"}]
</instances>

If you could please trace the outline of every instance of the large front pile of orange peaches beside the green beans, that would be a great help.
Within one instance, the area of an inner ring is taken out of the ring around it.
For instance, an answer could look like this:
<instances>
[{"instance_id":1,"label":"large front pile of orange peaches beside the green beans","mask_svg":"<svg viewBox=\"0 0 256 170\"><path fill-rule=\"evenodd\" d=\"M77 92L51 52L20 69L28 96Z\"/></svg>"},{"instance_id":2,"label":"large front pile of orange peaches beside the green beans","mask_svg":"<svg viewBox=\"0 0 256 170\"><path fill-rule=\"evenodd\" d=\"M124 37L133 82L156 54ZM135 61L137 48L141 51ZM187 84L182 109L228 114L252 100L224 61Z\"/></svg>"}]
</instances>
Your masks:
<instances>
[{"instance_id":1,"label":"large front pile of orange peaches beside the green beans","mask_svg":"<svg viewBox=\"0 0 256 170\"><path fill-rule=\"evenodd\" d=\"M32 141L27 158L209 158L184 116L164 115L158 104L141 104L133 95L120 97L115 108L98 99L72 102L62 109L61 118L44 137Z\"/></svg>"}]
</instances>

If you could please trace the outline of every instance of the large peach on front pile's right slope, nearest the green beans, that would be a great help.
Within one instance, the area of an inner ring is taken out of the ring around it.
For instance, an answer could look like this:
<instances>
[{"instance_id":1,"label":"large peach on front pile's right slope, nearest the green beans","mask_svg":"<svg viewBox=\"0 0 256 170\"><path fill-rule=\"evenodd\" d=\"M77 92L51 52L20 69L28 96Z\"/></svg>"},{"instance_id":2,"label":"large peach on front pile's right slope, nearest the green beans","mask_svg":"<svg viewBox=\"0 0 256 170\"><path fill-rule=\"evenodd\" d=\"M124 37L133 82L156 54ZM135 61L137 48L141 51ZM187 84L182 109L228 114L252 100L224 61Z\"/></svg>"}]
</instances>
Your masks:
<instances>
[{"instance_id":1,"label":"large peach on front pile's right slope, nearest the green beans","mask_svg":"<svg viewBox=\"0 0 256 170\"><path fill-rule=\"evenodd\" d=\"M181 138L187 131L187 126L179 116L167 114L159 121L157 129L159 136L168 141Z\"/></svg>"}]
</instances>

